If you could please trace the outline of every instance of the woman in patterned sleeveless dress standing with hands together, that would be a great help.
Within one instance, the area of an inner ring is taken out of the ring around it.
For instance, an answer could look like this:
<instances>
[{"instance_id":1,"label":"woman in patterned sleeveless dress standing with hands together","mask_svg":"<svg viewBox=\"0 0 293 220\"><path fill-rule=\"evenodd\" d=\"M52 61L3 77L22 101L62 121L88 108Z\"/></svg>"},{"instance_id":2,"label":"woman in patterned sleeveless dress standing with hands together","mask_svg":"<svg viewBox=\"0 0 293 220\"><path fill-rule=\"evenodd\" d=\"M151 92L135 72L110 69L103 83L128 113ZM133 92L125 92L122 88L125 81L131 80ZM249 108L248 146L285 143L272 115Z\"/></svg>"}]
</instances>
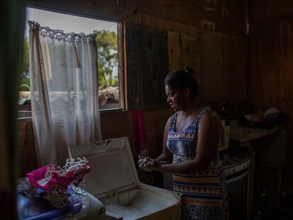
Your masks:
<instances>
[{"instance_id":1,"label":"woman in patterned sleeveless dress standing with hands together","mask_svg":"<svg viewBox=\"0 0 293 220\"><path fill-rule=\"evenodd\" d=\"M173 71L165 79L167 101L176 112L166 123L163 152L139 156L139 167L173 174L173 188L183 193L182 219L228 219L226 182L219 159L222 125L217 113L197 100L193 69Z\"/></svg>"}]
</instances>

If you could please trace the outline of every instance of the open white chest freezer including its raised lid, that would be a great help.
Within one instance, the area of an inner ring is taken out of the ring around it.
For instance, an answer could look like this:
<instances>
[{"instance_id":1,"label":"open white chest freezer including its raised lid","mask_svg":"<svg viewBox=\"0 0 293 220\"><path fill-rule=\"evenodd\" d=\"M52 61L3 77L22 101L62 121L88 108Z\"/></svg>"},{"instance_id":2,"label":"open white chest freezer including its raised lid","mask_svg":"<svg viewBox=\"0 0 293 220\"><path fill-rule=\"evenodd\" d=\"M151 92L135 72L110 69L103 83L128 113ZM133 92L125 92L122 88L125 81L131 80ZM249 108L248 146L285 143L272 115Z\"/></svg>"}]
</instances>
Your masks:
<instances>
[{"instance_id":1,"label":"open white chest freezer including its raised lid","mask_svg":"<svg viewBox=\"0 0 293 220\"><path fill-rule=\"evenodd\" d=\"M139 181L127 137L82 144L69 151L74 158L87 158L91 166L85 176L87 191L114 219L181 219L178 193Z\"/></svg>"}]
</instances>

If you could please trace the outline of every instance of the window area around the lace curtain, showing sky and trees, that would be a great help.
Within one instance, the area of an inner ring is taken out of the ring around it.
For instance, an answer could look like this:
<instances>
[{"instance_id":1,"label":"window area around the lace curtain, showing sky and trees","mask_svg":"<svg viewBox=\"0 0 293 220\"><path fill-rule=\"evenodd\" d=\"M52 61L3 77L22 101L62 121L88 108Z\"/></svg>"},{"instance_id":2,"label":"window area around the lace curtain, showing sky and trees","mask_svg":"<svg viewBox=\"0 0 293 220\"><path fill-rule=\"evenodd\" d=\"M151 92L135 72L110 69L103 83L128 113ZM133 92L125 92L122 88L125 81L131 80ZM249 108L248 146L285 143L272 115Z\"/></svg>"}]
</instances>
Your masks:
<instances>
[{"instance_id":1,"label":"window area around the lace curtain, showing sky and trees","mask_svg":"<svg viewBox=\"0 0 293 220\"><path fill-rule=\"evenodd\" d=\"M124 108L122 88L121 23L27 8L27 21L36 21L64 33L96 33L100 110ZM19 88L20 117L30 115L29 28L25 25L23 71Z\"/></svg>"}]
</instances>

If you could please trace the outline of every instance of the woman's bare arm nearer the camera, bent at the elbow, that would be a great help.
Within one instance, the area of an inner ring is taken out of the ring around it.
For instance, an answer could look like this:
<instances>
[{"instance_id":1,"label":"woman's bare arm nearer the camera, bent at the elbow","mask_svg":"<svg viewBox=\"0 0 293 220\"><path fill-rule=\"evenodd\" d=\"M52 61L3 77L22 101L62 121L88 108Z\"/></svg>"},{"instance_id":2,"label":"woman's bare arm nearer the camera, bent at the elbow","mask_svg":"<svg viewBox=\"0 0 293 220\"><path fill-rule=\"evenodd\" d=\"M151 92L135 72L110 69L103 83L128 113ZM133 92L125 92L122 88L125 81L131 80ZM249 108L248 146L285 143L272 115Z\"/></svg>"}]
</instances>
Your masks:
<instances>
[{"instance_id":1,"label":"woman's bare arm nearer the camera, bent at the elbow","mask_svg":"<svg viewBox=\"0 0 293 220\"><path fill-rule=\"evenodd\" d=\"M200 120L195 158L171 164L160 164L154 161L153 168L172 173L195 173L206 170L216 154L221 135L222 125L217 113L207 112Z\"/></svg>"}]
</instances>

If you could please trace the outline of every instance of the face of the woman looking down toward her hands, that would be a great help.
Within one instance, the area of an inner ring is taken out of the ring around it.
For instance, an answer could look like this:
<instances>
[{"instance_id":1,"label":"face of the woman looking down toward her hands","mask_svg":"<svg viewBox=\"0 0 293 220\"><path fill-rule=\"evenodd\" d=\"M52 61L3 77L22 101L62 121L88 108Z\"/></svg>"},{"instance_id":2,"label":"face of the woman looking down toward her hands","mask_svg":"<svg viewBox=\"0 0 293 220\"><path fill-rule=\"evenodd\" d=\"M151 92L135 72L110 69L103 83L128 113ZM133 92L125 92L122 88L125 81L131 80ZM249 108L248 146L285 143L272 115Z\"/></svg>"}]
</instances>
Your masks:
<instances>
[{"instance_id":1,"label":"face of the woman looking down toward her hands","mask_svg":"<svg viewBox=\"0 0 293 220\"><path fill-rule=\"evenodd\" d=\"M170 104L171 109L175 112L182 110L185 103L185 94L181 88L171 88L170 86L165 86L165 91L167 95L167 102Z\"/></svg>"}]
</instances>

